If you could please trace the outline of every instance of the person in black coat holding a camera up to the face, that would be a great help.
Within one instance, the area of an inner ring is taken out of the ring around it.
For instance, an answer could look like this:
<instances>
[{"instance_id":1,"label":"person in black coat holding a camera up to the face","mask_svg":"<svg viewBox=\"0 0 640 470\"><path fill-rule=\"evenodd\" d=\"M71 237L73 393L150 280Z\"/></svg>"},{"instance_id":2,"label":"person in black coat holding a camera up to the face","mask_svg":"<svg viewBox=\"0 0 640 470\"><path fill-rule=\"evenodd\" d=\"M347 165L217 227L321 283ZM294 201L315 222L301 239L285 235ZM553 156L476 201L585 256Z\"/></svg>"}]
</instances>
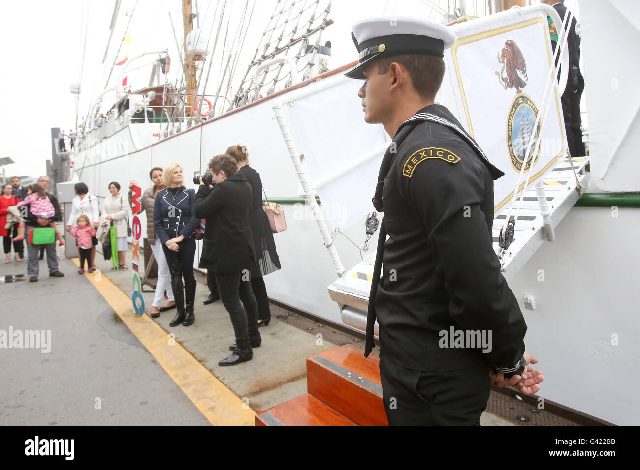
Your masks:
<instances>
[{"instance_id":1,"label":"person in black coat holding a camera up to the face","mask_svg":"<svg viewBox=\"0 0 640 470\"><path fill-rule=\"evenodd\" d=\"M195 216L206 219L202 258L207 271L215 274L220 298L231 318L236 344L232 354L218 363L232 366L250 361L253 347L262 343L258 331L258 304L251 290L250 272L255 269L252 233L249 224L252 189L236 160L216 155L209 162L213 188L200 180ZM240 301L242 300L242 304ZM243 308L244 306L244 308Z\"/></svg>"}]
</instances>

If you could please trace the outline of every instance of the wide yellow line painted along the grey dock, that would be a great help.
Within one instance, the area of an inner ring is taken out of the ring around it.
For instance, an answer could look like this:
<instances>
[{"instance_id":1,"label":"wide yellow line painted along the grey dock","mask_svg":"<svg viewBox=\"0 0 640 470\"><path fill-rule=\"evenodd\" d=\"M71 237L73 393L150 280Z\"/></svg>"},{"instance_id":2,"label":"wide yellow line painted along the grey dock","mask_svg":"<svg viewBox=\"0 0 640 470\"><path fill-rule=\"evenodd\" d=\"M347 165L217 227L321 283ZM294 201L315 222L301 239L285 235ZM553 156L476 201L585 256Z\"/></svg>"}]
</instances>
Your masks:
<instances>
[{"instance_id":1,"label":"wide yellow line painted along the grey dock","mask_svg":"<svg viewBox=\"0 0 640 470\"><path fill-rule=\"evenodd\" d=\"M77 266L79 258L73 258ZM104 272L97 280L95 272L84 274L127 327L147 348L189 400L214 426L254 426L255 411L245 405L220 380L209 372L180 343L148 315L133 312L131 298L122 292ZM173 340L173 344L170 344Z\"/></svg>"}]
</instances>

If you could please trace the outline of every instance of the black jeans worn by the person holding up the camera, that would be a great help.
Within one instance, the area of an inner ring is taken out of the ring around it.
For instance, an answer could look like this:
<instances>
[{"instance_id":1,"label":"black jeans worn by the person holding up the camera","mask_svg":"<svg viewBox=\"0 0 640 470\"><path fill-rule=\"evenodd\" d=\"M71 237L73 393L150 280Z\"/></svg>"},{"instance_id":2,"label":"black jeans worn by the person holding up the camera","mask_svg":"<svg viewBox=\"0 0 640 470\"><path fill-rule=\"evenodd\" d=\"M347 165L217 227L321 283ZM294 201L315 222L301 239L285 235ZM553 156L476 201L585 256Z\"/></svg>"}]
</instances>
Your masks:
<instances>
[{"instance_id":1,"label":"black jeans worn by the person holding up the camera","mask_svg":"<svg viewBox=\"0 0 640 470\"><path fill-rule=\"evenodd\" d=\"M251 282L243 281L242 276L240 272L237 274L216 272L216 284L222 304L231 318L234 334L236 334L236 344L239 349L246 349L250 344L249 338L259 336L258 304L253 297ZM241 299L242 304L240 304Z\"/></svg>"}]
</instances>

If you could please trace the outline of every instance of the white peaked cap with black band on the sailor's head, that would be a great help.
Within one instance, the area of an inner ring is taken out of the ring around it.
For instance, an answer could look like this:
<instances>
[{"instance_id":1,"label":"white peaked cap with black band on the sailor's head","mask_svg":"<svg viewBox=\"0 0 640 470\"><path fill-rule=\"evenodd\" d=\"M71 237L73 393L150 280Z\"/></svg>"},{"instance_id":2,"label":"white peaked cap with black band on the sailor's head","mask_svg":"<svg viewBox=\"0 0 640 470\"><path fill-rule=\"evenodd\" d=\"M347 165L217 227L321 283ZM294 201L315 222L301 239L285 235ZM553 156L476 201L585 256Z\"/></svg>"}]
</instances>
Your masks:
<instances>
[{"instance_id":1,"label":"white peaked cap with black band on the sailor's head","mask_svg":"<svg viewBox=\"0 0 640 470\"><path fill-rule=\"evenodd\" d=\"M351 38L360 53L358 65L345 75L364 79L362 69L369 60L397 54L431 54L442 58L456 42L444 24L417 18L378 17L356 22Z\"/></svg>"}]
</instances>

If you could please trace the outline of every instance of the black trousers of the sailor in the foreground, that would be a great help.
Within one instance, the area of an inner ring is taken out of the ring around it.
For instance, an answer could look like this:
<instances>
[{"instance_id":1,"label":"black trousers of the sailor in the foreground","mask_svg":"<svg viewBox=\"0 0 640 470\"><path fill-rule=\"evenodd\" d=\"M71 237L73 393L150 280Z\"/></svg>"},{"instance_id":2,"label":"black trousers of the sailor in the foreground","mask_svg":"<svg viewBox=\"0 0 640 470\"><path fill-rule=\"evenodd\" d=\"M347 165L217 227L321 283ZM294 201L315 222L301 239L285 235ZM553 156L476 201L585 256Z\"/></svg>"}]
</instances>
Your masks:
<instances>
[{"instance_id":1,"label":"black trousers of the sailor in the foreground","mask_svg":"<svg viewBox=\"0 0 640 470\"><path fill-rule=\"evenodd\" d=\"M380 352L382 400L389 426L479 426L489 400L487 370L474 366L426 372Z\"/></svg>"}]
</instances>

